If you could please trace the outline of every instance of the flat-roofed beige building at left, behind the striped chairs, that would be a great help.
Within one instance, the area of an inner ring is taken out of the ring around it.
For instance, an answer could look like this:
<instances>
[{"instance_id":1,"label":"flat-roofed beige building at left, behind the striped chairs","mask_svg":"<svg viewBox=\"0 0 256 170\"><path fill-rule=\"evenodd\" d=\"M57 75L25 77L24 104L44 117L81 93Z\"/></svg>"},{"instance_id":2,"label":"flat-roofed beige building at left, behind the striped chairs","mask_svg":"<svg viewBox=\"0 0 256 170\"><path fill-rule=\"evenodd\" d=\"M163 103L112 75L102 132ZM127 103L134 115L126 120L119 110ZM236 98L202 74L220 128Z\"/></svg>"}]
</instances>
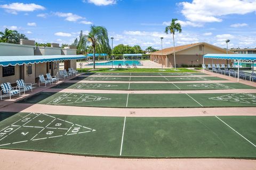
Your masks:
<instances>
[{"instance_id":1,"label":"flat-roofed beige building at left, behind the striped chairs","mask_svg":"<svg viewBox=\"0 0 256 170\"><path fill-rule=\"evenodd\" d=\"M59 44L52 44L52 47L36 47L34 40L22 40L20 44L0 43L1 56L44 56L44 55L74 55L76 49L63 49ZM65 69L73 67L76 69L76 60L66 60ZM1 65L1 64L0 64ZM42 63L22 64L15 66L0 66L0 84L4 82L15 83L18 79L23 79L25 82L38 82L39 74L51 73L56 75L58 72L58 63L49 61Z\"/></svg>"}]
</instances>

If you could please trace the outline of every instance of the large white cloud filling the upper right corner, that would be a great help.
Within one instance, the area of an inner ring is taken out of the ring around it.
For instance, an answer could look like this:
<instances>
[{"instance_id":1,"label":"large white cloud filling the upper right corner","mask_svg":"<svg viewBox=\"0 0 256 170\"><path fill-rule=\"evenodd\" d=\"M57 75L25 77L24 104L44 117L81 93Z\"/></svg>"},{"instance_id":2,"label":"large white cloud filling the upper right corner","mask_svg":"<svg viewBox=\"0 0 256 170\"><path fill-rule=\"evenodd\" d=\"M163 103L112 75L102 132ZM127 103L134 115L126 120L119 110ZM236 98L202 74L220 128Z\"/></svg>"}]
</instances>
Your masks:
<instances>
[{"instance_id":1,"label":"large white cloud filling the upper right corner","mask_svg":"<svg viewBox=\"0 0 256 170\"><path fill-rule=\"evenodd\" d=\"M220 16L256 11L255 0L193 0L181 2L181 13L192 22L221 22Z\"/></svg>"}]
</instances>

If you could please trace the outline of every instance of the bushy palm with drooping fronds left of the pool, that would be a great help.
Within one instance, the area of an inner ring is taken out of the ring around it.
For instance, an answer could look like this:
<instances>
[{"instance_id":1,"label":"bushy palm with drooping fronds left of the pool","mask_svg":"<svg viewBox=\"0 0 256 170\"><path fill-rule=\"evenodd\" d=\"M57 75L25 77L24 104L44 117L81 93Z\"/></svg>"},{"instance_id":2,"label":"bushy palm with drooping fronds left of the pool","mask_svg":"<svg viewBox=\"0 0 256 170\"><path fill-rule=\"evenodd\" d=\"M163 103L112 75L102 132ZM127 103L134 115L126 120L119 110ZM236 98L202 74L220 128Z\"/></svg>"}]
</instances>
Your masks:
<instances>
[{"instance_id":1,"label":"bushy palm with drooping fronds left of the pool","mask_svg":"<svg viewBox=\"0 0 256 170\"><path fill-rule=\"evenodd\" d=\"M108 31L102 26L91 26L89 34L86 36L93 48L93 69L95 69L95 52L96 48L99 52L109 52L110 45L108 39Z\"/></svg>"}]
</instances>

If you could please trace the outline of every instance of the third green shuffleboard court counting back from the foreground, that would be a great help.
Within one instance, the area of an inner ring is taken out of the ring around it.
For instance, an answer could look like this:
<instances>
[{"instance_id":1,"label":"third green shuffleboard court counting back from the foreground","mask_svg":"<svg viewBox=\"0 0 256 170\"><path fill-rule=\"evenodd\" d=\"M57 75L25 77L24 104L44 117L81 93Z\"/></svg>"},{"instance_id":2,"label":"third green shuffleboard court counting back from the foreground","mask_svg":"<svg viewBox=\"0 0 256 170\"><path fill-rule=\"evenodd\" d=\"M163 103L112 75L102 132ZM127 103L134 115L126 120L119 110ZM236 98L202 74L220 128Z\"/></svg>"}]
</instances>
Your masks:
<instances>
[{"instance_id":1,"label":"third green shuffleboard court counting back from the foreground","mask_svg":"<svg viewBox=\"0 0 256 170\"><path fill-rule=\"evenodd\" d=\"M61 83L55 89L95 90L217 90L256 89L242 83Z\"/></svg>"}]
</instances>

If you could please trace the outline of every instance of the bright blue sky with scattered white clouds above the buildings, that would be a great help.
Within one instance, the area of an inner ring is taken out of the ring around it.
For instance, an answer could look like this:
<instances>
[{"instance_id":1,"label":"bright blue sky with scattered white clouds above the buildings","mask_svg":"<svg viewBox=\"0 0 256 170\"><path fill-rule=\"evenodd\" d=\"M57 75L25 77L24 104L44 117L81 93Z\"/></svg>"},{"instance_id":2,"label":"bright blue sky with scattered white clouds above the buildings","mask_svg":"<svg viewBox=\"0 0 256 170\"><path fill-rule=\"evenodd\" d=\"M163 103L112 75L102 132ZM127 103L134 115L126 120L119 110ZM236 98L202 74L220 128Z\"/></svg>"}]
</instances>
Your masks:
<instances>
[{"instance_id":1,"label":"bright blue sky with scattered white clouds above the buildings","mask_svg":"<svg viewBox=\"0 0 256 170\"><path fill-rule=\"evenodd\" d=\"M18 30L38 43L71 44L91 25L104 26L113 45L173 46L165 27L176 18L175 45L206 42L256 48L256 0L0 0L0 30ZM110 42L111 44L111 42Z\"/></svg>"}]
</instances>

